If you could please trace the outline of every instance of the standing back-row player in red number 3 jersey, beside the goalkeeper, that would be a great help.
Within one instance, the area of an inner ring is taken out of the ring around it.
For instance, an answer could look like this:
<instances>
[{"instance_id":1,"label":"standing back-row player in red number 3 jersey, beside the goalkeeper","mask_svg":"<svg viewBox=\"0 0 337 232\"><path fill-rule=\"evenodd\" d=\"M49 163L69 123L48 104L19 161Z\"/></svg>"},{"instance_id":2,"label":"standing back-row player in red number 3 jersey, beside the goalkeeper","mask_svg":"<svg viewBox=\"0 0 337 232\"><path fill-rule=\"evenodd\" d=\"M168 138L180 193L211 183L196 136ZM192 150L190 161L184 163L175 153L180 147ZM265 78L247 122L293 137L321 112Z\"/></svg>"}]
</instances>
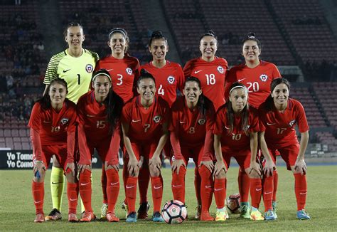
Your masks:
<instances>
[{"instance_id":1,"label":"standing back-row player in red number 3 jersey, beside the goalkeeper","mask_svg":"<svg viewBox=\"0 0 337 232\"><path fill-rule=\"evenodd\" d=\"M123 28L114 28L109 33L109 41L107 45L111 50L111 56L107 56L97 63L96 70L105 68L111 77L112 88L114 93L122 97L124 103L134 97L134 81L139 76L139 60L133 56L129 56L129 36ZM127 160L124 158L124 163ZM124 190L127 184L127 167L123 166L123 182ZM102 218L105 218L107 211L107 177L105 176L104 167L102 169L102 191L103 191L103 206ZM127 205L124 201L122 208L126 209ZM126 209L127 210L127 209Z\"/></svg>"}]
</instances>

